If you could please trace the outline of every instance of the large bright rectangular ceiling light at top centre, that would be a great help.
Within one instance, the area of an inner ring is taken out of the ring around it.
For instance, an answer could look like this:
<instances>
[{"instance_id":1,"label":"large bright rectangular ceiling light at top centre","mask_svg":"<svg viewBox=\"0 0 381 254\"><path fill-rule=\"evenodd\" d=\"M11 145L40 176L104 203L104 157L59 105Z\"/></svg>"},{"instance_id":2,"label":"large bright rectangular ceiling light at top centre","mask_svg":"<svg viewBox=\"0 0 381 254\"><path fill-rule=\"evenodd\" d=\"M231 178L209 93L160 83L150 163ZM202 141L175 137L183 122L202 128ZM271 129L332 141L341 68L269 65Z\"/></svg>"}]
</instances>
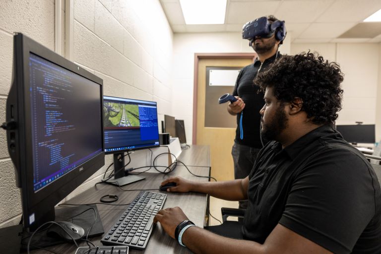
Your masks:
<instances>
[{"instance_id":1,"label":"large bright rectangular ceiling light at top centre","mask_svg":"<svg viewBox=\"0 0 381 254\"><path fill-rule=\"evenodd\" d=\"M187 25L225 23L226 0L180 0Z\"/></svg>"}]
</instances>

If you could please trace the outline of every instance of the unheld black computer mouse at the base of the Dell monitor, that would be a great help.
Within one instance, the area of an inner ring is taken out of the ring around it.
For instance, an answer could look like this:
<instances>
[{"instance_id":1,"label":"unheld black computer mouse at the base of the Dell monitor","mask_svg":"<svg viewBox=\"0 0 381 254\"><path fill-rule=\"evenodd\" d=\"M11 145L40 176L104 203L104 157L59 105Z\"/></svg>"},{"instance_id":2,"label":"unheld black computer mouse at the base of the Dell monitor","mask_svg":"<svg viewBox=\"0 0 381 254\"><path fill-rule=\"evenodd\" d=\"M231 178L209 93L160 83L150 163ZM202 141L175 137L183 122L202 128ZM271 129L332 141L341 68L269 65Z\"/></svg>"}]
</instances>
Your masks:
<instances>
[{"instance_id":1,"label":"unheld black computer mouse at the base of the Dell monitor","mask_svg":"<svg viewBox=\"0 0 381 254\"><path fill-rule=\"evenodd\" d=\"M73 239L78 240L82 238L85 234L85 230L82 227L71 222L57 221L57 223L60 224L65 230L63 230L59 225L53 224L46 232L48 236L72 241Z\"/></svg>"}]
</instances>

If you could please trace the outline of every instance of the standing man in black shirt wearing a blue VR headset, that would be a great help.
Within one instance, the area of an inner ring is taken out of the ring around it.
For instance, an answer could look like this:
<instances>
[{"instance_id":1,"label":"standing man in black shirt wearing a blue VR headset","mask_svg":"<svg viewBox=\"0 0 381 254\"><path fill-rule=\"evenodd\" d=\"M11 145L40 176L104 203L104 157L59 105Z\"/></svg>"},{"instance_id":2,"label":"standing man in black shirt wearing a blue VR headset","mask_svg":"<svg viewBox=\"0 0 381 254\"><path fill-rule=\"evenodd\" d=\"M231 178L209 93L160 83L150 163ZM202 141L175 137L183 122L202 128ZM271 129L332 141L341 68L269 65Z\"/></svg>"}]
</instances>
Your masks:
<instances>
[{"instance_id":1,"label":"standing man in black shirt wearing a blue VR headset","mask_svg":"<svg viewBox=\"0 0 381 254\"><path fill-rule=\"evenodd\" d=\"M259 149L263 146L259 133L260 115L253 114L259 112L264 104L263 93L257 93L258 86L254 85L253 79L258 72L281 57L278 48L285 36L284 21L272 15L257 18L243 27L242 38L250 41L249 46L258 57L254 64L241 69L233 91L238 101L228 105L229 114L237 116L236 137L232 147L235 179L243 179L250 174ZM239 208L246 207L247 201L239 202Z\"/></svg>"}]
</instances>

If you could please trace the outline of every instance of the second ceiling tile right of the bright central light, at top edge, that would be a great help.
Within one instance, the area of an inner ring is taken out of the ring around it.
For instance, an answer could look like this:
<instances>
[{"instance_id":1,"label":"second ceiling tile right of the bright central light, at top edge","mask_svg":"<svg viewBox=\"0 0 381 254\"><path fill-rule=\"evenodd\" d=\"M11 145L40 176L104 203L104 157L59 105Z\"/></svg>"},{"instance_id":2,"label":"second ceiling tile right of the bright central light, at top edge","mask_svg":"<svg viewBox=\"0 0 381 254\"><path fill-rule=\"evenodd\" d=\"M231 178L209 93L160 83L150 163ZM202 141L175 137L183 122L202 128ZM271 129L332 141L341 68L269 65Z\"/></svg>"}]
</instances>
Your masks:
<instances>
[{"instance_id":1,"label":"second ceiling tile right of the bright central light, at top edge","mask_svg":"<svg viewBox=\"0 0 381 254\"><path fill-rule=\"evenodd\" d=\"M280 20L289 23L313 22L333 0L283 1L275 12Z\"/></svg>"}]
</instances>

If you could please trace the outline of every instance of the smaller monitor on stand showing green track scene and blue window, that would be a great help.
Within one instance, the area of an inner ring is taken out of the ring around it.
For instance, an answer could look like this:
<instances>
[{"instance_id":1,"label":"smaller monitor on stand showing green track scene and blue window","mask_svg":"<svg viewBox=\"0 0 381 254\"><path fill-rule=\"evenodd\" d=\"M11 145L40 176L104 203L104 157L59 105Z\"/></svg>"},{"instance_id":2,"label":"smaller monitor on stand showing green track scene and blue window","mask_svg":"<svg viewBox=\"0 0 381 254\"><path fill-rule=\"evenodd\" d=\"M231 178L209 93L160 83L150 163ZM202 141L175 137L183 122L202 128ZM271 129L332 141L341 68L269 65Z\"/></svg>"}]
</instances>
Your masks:
<instances>
[{"instance_id":1,"label":"smaller monitor on stand showing green track scene and blue window","mask_svg":"<svg viewBox=\"0 0 381 254\"><path fill-rule=\"evenodd\" d=\"M114 177L105 181L124 186L143 180L128 174L124 156L128 151L160 146L156 102L104 96L103 114L105 152L114 154Z\"/></svg>"}]
</instances>

